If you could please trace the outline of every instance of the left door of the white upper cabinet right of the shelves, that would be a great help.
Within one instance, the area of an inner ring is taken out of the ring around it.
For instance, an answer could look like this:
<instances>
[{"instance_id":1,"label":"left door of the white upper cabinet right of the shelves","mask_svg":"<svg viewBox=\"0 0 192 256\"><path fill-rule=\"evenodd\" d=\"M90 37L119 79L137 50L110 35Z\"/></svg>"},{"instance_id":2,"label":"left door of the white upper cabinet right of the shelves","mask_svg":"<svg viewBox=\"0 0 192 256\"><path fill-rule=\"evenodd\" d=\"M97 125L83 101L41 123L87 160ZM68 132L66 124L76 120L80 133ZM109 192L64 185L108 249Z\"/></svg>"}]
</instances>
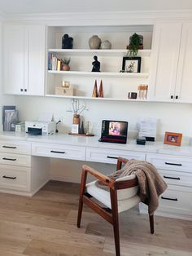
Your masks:
<instances>
[{"instance_id":1,"label":"left door of the white upper cabinet right of the shelves","mask_svg":"<svg viewBox=\"0 0 192 256\"><path fill-rule=\"evenodd\" d=\"M151 99L174 100L180 42L181 23L156 24L152 46Z\"/></svg>"}]
</instances>

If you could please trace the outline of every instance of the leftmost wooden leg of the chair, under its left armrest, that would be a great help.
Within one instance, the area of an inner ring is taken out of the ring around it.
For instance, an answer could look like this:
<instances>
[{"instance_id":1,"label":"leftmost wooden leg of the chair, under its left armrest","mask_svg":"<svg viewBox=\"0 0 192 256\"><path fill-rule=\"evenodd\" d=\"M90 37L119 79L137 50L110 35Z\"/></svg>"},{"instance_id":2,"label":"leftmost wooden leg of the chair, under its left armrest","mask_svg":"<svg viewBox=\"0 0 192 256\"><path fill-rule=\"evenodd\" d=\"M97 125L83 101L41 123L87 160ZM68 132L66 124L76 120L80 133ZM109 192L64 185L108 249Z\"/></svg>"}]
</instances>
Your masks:
<instances>
[{"instance_id":1,"label":"leftmost wooden leg of the chair, under its left armrest","mask_svg":"<svg viewBox=\"0 0 192 256\"><path fill-rule=\"evenodd\" d=\"M77 227L81 226L81 215L83 210L83 195L85 193L85 184L86 184L87 172L83 169L81 174L81 187L80 187L80 199L79 199L79 209L77 216Z\"/></svg>"}]
</instances>

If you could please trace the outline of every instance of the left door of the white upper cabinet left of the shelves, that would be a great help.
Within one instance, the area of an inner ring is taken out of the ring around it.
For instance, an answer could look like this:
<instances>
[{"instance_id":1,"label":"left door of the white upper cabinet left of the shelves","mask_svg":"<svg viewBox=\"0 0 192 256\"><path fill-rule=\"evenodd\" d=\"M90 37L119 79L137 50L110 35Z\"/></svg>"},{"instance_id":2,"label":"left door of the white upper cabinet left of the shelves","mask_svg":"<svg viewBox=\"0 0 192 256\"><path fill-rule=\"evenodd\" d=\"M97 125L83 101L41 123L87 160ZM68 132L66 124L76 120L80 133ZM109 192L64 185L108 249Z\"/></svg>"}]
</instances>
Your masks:
<instances>
[{"instance_id":1,"label":"left door of the white upper cabinet left of the shelves","mask_svg":"<svg viewBox=\"0 0 192 256\"><path fill-rule=\"evenodd\" d=\"M4 93L20 95L24 92L24 26L5 25L3 30L3 86Z\"/></svg>"}]
</instances>

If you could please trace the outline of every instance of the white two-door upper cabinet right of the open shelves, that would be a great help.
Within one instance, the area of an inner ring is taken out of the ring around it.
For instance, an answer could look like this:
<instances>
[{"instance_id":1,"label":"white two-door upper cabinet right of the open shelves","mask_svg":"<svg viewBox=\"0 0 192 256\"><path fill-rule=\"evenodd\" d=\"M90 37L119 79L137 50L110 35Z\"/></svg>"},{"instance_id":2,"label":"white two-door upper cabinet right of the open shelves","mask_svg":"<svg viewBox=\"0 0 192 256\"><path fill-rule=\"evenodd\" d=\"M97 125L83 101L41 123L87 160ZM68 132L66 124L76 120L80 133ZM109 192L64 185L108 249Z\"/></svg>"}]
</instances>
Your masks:
<instances>
[{"instance_id":1,"label":"white two-door upper cabinet right of the open shelves","mask_svg":"<svg viewBox=\"0 0 192 256\"><path fill-rule=\"evenodd\" d=\"M150 99L192 103L192 23L155 26Z\"/></svg>"}]
</instances>

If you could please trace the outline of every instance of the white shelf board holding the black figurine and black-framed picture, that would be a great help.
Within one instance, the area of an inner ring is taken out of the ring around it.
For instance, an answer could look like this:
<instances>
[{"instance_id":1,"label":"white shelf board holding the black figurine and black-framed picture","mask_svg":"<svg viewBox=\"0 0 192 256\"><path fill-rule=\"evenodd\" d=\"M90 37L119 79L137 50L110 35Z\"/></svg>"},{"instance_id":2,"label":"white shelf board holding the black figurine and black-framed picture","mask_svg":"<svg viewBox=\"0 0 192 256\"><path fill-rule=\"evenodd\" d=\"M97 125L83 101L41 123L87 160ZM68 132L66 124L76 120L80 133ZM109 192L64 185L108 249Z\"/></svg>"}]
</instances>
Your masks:
<instances>
[{"instance_id":1,"label":"white shelf board holding the black figurine and black-framed picture","mask_svg":"<svg viewBox=\"0 0 192 256\"><path fill-rule=\"evenodd\" d=\"M56 71L48 70L48 73L63 74L70 76L87 76L87 77L134 77L134 78L147 78L149 73L120 73L120 72L83 72L83 71Z\"/></svg>"}]
</instances>

